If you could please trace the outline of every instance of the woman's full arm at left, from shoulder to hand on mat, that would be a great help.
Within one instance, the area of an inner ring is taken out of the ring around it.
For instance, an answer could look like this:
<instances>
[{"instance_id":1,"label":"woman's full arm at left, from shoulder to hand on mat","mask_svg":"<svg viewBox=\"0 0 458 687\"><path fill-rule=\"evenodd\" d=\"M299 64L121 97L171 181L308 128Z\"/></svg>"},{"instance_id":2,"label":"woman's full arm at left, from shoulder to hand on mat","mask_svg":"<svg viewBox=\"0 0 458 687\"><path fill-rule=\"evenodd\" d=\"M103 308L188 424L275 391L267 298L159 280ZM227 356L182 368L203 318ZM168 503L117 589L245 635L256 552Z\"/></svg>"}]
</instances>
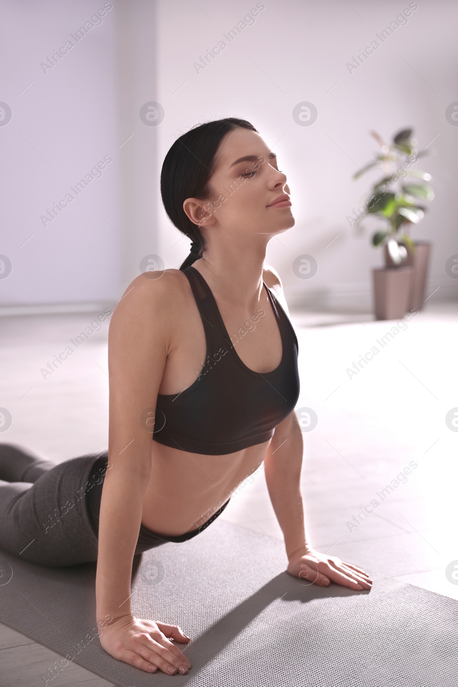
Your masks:
<instances>
[{"instance_id":1,"label":"woman's full arm at left, from shoulder to hand on mat","mask_svg":"<svg viewBox=\"0 0 458 687\"><path fill-rule=\"evenodd\" d=\"M177 627L135 618L130 609L133 556L151 473L152 433L144 414L154 418L170 344L169 278L167 273L156 280L139 276L111 319L109 469L100 504L95 592L105 651L144 671L159 668L183 674L190 662L168 638L179 642L189 638Z\"/></svg>"}]
</instances>

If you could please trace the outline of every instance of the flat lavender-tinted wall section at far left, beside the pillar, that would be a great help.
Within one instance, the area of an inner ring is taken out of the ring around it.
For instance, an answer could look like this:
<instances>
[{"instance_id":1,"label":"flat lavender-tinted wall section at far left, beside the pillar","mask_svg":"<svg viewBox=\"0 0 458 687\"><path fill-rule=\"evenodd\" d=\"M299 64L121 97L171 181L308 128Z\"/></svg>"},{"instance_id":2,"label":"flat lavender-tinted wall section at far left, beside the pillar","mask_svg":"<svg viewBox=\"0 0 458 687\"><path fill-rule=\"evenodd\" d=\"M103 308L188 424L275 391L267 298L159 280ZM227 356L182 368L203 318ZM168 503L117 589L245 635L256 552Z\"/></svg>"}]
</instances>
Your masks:
<instances>
[{"instance_id":1,"label":"flat lavender-tinted wall section at far left, beside the pillar","mask_svg":"<svg viewBox=\"0 0 458 687\"><path fill-rule=\"evenodd\" d=\"M0 126L0 253L10 258L13 269L0 280L0 302L36 307L34 302L111 301L121 287L126 245L116 233L121 232L122 141L116 116L119 84L110 73L115 71L115 9L77 43L70 34L103 8L104 0L45 5L10 0L1 6L7 68L0 100L11 107L12 120ZM67 41L74 47L43 71L41 63ZM70 186L104 156L113 161L102 177L76 196ZM73 201L44 226L41 215L67 193Z\"/></svg>"}]
</instances>

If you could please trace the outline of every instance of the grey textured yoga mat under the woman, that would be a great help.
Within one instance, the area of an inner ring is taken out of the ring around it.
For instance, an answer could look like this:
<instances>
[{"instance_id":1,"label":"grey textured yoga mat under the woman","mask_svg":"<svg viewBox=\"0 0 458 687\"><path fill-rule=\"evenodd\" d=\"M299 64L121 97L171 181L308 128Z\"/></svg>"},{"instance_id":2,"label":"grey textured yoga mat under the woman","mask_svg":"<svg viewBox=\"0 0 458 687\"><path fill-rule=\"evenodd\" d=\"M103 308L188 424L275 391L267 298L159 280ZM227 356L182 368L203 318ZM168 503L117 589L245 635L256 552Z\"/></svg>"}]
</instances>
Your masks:
<instances>
[{"instance_id":1,"label":"grey textured yoga mat under the woman","mask_svg":"<svg viewBox=\"0 0 458 687\"><path fill-rule=\"evenodd\" d=\"M1 622L120 687L458 683L457 601L378 574L370 592L310 585L284 572L281 541L225 521L135 557L133 612L192 638L184 676L148 675L102 649L95 563L47 568L5 552L0 563Z\"/></svg>"}]
</instances>

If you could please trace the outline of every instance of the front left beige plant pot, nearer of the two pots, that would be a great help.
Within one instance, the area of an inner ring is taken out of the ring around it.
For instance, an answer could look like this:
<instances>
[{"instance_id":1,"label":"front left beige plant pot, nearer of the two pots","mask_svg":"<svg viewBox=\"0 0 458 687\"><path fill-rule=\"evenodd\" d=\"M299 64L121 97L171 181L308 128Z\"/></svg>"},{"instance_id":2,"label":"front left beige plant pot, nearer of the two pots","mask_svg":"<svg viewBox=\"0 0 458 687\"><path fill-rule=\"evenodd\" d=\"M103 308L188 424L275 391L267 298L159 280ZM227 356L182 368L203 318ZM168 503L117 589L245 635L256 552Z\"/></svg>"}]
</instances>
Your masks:
<instances>
[{"instance_id":1,"label":"front left beige plant pot, nearer of the two pots","mask_svg":"<svg viewBox=\"0 0 458 687\"><path fill-rule=\"evenodd\" d=\"M374 278L376 319L401 319L411 310L413 267L378 268Z\"/></svg>"}]
</instances>

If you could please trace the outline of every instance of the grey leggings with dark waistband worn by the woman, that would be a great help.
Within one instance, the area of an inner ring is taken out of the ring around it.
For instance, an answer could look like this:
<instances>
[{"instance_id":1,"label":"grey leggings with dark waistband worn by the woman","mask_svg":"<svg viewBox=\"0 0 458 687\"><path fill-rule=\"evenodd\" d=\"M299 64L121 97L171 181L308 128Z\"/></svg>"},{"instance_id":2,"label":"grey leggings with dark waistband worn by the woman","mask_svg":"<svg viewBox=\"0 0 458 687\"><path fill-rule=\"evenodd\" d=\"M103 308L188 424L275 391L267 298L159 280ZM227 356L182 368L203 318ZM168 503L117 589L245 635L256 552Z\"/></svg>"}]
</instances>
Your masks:
<instances>
[{"instance_id":1,"label":"grey leggings with dark waistband worn by the woman","mask_svg":"<svg viewBox=\"0 0 458 687\"><path fill-rule=\"evenodd\" d=\"M12 444L0 444L0 549L30 563L62 567L97 560L98 516L108 453L58 465ZM165 537L140 526L135 554L205 529Z\"/></svg>"}]
</instances>

